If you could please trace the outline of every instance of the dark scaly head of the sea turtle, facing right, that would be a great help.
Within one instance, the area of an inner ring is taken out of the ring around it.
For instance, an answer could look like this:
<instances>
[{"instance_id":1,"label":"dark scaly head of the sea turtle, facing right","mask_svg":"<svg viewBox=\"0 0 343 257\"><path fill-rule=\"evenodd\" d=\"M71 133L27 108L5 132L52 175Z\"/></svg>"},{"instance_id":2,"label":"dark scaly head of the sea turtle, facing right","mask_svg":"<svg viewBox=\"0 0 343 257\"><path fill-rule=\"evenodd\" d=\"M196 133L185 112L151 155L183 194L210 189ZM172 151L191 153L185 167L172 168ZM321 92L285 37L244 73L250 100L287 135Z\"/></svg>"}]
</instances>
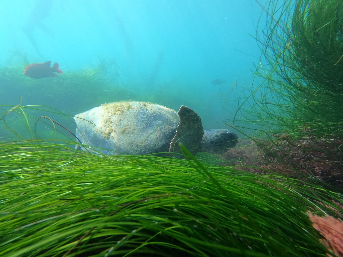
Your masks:
<instances>
[{"instance_id":1,"label":"dark scaly head of the sea turtle, facing right","mask_svg":"<svg viewBox=\"0 0 343 257\"><path fill-rule=\"evenodd\" d=\"M238 136L232 131L226 129L205 130L200 151L223 154L236 146L237 142Z\"/></svg>"}]
</instances>

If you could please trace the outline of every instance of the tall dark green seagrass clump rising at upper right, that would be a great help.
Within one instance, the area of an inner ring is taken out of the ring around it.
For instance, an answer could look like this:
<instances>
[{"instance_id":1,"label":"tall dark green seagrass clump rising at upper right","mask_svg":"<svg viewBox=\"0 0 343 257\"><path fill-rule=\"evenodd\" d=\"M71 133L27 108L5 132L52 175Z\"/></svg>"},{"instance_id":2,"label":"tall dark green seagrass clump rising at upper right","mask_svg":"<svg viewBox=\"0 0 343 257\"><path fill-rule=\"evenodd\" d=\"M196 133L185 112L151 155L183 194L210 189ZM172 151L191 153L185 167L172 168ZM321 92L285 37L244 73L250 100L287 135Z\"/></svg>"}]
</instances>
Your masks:
<instances>
[{"instance_id":1,"label":"tall dark green seagrass clump rising at upper right","mask_svg":"<svg viewBox=\"0 0 343 257\"><path fill-rule=\"evenodd\" d=\"M274 132L342 136L342 1L271 1L263 9L267 26L260 21L256 35L262 50L256 76L263 81L251 89L253 105L241 101L240 112Z\"/></svg>"}]
</instances>

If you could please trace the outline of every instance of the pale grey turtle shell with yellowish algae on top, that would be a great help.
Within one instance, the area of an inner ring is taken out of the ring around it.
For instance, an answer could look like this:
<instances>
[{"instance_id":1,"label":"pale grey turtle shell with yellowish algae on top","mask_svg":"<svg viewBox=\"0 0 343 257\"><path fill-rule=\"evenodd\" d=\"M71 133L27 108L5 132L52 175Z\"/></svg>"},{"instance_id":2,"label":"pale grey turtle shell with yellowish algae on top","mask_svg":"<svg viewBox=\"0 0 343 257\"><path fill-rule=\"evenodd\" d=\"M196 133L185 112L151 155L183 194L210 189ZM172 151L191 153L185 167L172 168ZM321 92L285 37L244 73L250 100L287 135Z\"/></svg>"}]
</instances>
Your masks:
<instances>
[{"instance_id":1,"label":"pale grey turtle shell with yellowish algae on top","mask_svg":"<svg viewBox=\"0 0 343 257\"><path fill-rule=\"evenodd\" d=\"M133 155L168 152L180 122L176 111L138 101L105 103L74 119L76 136L87 149Z\"/></svg>"}]
</instances>

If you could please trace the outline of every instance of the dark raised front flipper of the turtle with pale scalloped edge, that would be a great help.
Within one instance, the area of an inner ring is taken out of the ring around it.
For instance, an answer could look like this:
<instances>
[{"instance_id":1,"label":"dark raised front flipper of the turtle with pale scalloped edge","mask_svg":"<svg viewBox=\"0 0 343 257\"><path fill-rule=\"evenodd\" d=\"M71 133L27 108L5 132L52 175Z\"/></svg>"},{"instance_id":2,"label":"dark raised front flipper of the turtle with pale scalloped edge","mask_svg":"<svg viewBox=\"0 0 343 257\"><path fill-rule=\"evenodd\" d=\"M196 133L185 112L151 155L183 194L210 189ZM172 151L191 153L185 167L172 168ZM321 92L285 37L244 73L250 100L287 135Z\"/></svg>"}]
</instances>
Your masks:
<instances>
[{"instance_id":1,"label":"dark raised front flipper of the turtle with pale scalloped edge","mask_svg":"<svg viewBox=\"0 0 343 257\"><path fill-rule=\"evenodd\" d=\"M181 152L179 143L182 143L191 153L195 155L200 150L200 144L204 130L199 115L187 106L181 106L178 111L180 123L176 133L171 139L169 152Z\"/></svg>"}]
</instances>

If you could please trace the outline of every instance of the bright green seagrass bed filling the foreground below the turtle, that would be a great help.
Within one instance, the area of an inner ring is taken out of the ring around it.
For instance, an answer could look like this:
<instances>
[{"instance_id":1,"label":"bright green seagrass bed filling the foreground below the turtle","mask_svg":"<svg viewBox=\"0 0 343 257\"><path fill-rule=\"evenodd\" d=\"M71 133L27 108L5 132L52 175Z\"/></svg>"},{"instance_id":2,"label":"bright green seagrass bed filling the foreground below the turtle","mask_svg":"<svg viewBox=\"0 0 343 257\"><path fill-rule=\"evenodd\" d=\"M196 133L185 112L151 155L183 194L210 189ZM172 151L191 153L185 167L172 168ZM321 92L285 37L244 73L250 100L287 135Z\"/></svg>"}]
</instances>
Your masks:
<instances>
[{"instance_id":1,"label":"bright green seagrass bed filling the foreground below the turtle","mask_svg":"<svg viewBox=\"0 0 343 257\"><path fill-rule=\"evenodd\" d=\"M189 160L0 145L0 256L326 256L340 195ZM324 206L324 205L327 205Z\"/></svg>"}]
</instances>

